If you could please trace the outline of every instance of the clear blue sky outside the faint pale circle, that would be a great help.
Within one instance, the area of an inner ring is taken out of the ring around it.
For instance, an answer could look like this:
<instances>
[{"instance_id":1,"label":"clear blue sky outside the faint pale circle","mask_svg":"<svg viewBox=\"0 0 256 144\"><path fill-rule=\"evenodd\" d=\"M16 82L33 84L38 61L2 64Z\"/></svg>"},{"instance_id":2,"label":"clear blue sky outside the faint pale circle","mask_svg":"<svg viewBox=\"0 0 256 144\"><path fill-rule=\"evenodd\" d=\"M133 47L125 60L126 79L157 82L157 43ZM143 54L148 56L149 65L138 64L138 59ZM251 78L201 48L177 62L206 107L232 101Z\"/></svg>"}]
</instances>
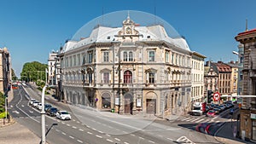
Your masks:
<instances>
[{"instance_id":1,"label":"clear blue sky outside the faint pale circle","mask_svg":"<svg viewBox=\"0 0 256 144\"><path fill-rule=\"evenodd\" d=\"M206 60L236 60L236 34L256 28L255 0L0 0L0 48L7 47L15 74L26 62L47 63L52 49L90 20L119 10L156 14Z\"/></svg>"}]
</instances>

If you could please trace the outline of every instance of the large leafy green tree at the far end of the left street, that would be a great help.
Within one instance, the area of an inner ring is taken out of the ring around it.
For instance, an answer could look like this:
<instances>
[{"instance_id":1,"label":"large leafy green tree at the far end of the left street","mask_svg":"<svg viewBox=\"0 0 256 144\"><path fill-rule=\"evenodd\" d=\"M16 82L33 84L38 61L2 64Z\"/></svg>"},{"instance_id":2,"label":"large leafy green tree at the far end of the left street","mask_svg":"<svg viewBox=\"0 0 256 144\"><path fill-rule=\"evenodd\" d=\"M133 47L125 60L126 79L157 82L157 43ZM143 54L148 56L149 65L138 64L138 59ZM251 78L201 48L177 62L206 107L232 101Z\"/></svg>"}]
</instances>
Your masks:
<instances>
[{"instance_id":1,"label":"large leafy green tree at the far end of the left street","mask_svg":"<svg viewBox=\"0 0 256 144\"><path fill-rule=\"evenodd\" d=\"M47 64L38 61L26 62L20 73L21 80L26 82L45 81L45 69Z\"/></svg>"}]
</instances>

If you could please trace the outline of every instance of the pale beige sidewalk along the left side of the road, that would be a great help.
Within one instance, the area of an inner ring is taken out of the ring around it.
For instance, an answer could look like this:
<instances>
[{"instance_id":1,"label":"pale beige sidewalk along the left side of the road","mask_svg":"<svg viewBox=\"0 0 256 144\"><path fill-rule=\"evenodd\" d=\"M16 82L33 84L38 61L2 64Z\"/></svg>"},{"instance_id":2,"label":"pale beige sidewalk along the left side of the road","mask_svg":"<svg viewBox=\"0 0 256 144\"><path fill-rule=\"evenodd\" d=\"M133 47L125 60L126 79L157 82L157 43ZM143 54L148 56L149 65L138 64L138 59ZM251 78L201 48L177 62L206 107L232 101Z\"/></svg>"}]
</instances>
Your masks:
<instances>
[{"instance_id":1,"label":"pale beige sidewalk along the left side of the road","mask_svg":"<svg viewBox=\"0 0 256 144\"><path fill-rule=\"evenodd\" d=\"M8 102L14 98L13 90L9 91ZM10 123L0 122L0 144L38 144L41 139L25 126L11 118Z\"/></svg>"}]
</instances>

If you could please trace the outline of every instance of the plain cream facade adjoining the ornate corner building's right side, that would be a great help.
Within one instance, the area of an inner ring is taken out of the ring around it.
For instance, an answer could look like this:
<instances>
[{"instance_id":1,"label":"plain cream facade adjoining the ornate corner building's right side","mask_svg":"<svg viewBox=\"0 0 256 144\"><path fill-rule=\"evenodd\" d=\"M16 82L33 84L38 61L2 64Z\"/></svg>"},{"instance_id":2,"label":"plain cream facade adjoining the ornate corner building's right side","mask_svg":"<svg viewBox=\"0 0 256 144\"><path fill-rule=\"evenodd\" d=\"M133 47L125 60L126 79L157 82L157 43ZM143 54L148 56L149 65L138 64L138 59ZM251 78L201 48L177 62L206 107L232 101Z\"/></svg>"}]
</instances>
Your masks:
<instances>
[{"instance_id":1,"label":"plain cream facade adjoining the ornate corner building's right side","mask_svg":"<svg viewBox=\"0 0 256 144\"><path fill-rule=\"evenodd\" d=\"M197 52L192 52L192 87L191 87L191 101L204 101L204 59L206 56Z\"/></svg>"}]
</instances>

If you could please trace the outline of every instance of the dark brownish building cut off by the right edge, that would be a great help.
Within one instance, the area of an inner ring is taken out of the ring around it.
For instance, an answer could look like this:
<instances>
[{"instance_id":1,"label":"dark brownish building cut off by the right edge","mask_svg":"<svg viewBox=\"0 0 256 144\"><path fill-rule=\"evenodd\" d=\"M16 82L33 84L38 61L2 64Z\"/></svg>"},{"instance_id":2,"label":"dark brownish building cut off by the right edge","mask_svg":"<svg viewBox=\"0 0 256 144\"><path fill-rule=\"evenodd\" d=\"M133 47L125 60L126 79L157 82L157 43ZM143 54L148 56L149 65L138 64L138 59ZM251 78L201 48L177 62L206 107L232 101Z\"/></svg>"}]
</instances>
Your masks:
<instances>
[{"instance_id":1,"label":"dark brownish building cut off by the right edge","mask_svg":"<svg viewBox=\"0 0 256 144\"><path fill-rule=\"evenodd\" d=\"M235 38L244 46L241 95L251 95L242 98L240 135L245 139L256 140L256 98L253 97L256 95L256 29L241 32Z\"/></svg>"}]
</instances>

